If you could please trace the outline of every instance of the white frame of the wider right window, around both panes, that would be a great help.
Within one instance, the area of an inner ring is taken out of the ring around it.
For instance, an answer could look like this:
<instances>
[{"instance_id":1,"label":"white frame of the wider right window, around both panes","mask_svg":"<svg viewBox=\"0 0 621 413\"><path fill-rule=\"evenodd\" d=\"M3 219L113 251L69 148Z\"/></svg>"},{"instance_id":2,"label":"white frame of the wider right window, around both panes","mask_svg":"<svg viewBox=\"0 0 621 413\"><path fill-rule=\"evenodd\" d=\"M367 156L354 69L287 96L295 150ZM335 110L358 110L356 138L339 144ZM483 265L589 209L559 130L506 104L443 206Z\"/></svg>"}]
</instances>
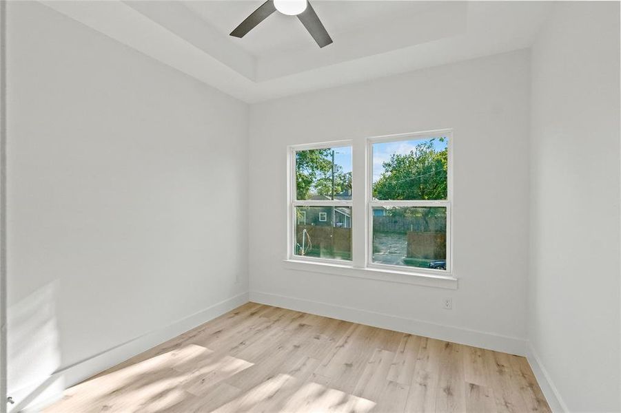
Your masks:
<instances>
[{"instance_id":1,"label":"white frame of the wider right window, around both panes","mask_svg":"<svg viewBox=\"0 0 621 413\"><path fill-rule=\"evenodd\" d=\"M447 199L446 200L373 200L373 145L376 143L401 142L405 140L429 140L432 138L448 138L447 159ZM453 133L451 129L438 131L416 132L412 134L398 134L378 136L367 139L367 268L385 269L387 271L405 271L411 273L428 273L434 275L452 275L452 233L451 233L451 201L453 199ZM447 210L447 253L446 270L419 268L411 266L378 264L373 262L373 207L444 207Z\"/></svg>"}]
</instances>

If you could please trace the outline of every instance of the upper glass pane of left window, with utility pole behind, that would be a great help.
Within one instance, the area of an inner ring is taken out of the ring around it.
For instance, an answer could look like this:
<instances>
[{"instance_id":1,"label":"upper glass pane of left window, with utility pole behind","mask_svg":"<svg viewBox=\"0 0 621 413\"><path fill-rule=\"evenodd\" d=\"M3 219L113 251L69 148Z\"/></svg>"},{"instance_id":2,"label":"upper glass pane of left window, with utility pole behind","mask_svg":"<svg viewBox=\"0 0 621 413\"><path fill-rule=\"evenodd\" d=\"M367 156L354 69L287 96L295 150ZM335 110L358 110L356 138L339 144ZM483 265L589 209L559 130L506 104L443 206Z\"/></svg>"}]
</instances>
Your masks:
<instances>
[{"instance_id":1,"label":"upper glass pane of left window, with utility pole behind","mask_svg":"<svg viewBox=\"0 0 621 413\"><path fill-rule=\"evenodd\" d=\"M297 200L351 200L352 147L296 151Z\"/></svg>"}]
</instances>

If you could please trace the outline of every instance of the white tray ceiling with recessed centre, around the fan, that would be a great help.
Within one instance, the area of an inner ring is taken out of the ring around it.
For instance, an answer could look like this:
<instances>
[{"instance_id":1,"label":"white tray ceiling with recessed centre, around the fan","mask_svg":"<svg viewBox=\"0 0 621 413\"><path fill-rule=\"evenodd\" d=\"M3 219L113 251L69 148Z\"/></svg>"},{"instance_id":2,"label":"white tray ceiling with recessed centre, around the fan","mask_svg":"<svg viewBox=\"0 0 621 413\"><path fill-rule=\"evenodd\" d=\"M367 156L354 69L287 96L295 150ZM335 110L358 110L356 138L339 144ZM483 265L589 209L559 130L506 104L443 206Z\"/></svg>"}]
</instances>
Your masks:
<instances>
[{"instance_id":1,"label":"white tray ceiling with recessed centre, around the fan","mask_svg":"<svg viewBox=\"0 0 621 413\"><path fill-rule=\"evenodd\" d=\"M43 1L249 103L529 47L542 1L312 0L334 43L320 49L275 12L228 34L262 1Z\"/></svg>"}]
</instances>

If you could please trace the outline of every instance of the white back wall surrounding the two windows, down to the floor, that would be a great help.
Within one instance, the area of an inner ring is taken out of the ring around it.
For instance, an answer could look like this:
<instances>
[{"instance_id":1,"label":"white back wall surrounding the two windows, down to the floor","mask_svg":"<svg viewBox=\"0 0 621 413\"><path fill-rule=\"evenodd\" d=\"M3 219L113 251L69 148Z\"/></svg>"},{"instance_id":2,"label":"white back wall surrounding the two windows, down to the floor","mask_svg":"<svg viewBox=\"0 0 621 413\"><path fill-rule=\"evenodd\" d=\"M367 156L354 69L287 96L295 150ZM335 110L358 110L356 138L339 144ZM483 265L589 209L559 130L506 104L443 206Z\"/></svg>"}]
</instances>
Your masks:
<instances>
[{"instance_id":1,"label":"white back wall surrounding the two windows, down to the floor","mask_svg":"<svg viewBox=\"0 0 621 413\"><path fill-rule=\"evenodd\" d=\"M252 105L251 299L523 353L529 82L522 50ZM283 266L287 145L442 128L454 128L458 290Z\"/></svg>"}]
</instances>

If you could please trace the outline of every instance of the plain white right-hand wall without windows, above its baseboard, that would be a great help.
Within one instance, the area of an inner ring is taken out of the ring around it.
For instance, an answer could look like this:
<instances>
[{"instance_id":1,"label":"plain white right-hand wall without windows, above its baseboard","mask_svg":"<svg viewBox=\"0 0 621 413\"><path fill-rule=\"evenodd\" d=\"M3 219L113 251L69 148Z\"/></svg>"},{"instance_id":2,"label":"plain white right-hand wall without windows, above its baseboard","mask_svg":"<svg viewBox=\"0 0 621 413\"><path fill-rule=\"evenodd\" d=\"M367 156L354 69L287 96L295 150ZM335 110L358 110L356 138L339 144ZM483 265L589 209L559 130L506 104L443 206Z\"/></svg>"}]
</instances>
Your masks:
<instances>
[{"instance_id":1,"label":"plain white right-hand wall without windows, above its baseboard","mask_svg":"<svg viewBox=\"0 0 621 413\"><path fill-rule=\"evenodd\" d=\"M532 50L529 339L571 412L621 410L619 3L561 2Z\"/></svg>"}]
</instances>

